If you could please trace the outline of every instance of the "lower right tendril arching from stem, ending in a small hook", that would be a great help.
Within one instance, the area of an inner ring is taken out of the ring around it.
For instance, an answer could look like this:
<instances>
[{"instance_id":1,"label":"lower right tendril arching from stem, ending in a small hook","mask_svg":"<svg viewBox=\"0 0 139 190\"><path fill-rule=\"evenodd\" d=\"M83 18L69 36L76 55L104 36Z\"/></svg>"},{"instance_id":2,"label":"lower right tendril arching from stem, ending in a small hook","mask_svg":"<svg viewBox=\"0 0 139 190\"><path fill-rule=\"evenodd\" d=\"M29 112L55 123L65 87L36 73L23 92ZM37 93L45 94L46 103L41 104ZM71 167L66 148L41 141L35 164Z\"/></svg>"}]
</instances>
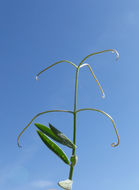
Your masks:
<instances>
[{"instance_id":1,"label":"lower right tendril arching from stem, ending in a small hook","mask_svg":"<svg viewBox=\"0 0 139 190\"><path fill-rule=\"evenodd\" d=\"M87 111L87 110L100 112L100 113L104 114L105 116L107 116L107 117L112 121L112 124L113 124L113 127L114 127L114 129L115 129L118 142L117 142L117 143L112 143L111 146L112 146L112 147L118 146L119 143L120 143L120 138L119 138L119 135L118 135L118 132L117 132L117 128L116 128L116 125L115 125L114 120L112 119L112 117L111 117L110 115L108 115L108 114L107 114L106 112L104 112L104 111L101 111L101 110L99 110L99 109L93 109L93 108L79 109L79 110L76 111L76 113L78 113L78 112L80 112L80 111Z\"/></svg>"}]
</instances>

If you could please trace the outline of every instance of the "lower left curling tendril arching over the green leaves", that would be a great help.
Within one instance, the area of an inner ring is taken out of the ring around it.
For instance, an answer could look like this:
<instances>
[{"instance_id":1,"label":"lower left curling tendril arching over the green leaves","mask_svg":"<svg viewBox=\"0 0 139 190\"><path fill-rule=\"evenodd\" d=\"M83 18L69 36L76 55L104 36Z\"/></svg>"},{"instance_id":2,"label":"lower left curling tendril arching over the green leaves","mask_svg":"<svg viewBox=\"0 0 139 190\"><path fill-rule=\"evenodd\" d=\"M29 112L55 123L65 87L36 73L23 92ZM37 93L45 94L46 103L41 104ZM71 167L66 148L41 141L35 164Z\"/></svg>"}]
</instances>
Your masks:
<instances>
[{"instance_id":1,"label":"lower left curling tendril arching over the green leaves","mask_svg":"<svg viewBox=\"0 0 139 190\"><path fill-rule=\"evenodd\" d=\"M38 113L37 115L35 115L35 116L32 118L32 120L28 123L28 125L27 125L27 126L21 131L21 133L18 135L18 137L17 137L17 144L18 144L19 147L21 147L20 144L19 144L19 139L20 139L21 135L24 133L24 131L31 125L31 123L32 123L37 117L39 117L40 115L43 115L43 114L45 114L45 113L51 113L51 112L66 112L66 113L72 113L72 114L74 114L74 112L69 111L69 110L48 110L48 111L44 111L44 112Z\"/></svg>"}]
</instances>

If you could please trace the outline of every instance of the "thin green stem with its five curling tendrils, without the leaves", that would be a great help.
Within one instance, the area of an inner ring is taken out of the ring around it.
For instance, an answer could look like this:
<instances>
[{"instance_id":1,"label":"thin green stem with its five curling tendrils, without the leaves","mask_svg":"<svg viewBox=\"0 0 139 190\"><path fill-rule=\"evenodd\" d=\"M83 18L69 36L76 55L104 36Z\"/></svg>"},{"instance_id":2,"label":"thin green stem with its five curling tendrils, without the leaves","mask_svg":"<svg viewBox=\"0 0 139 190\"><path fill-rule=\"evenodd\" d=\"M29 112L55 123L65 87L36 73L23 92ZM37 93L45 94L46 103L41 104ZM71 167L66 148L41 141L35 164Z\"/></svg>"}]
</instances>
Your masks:
<instances>
[{"instance_id":1,"label":"thin green stem with its five curling tendrils, without the leaves","mask_svg":"<svg viewBox=\"0 0 139 190\"><path fill-rule=\"evenodd\" d=\"M84 66L87 66L89 68L89 70L91 71L95 81L97 82L101 92L102 92L102 97L104 98L104 92L103 92L103 89L100 85L100 83L98 82L92 68L90 67L89 64L87 63L84 63L84 61L86 59L88 59L89 57L93 56L93 55L96 55L96 54L101 54L101 53L105 53L105 52L112 52L112 53L115 53L116 54L116 57L117 59L119 58L119 54L116 50L114 49L108 49L108 50L103 50L103 51L99 51L99 52L94 52L94 53L91 53L89 54L88 56L86 56L80 63L79 65L75 65L74 63L70 62L70 61L67 61L67 60L61 60L61 61L58 61L52 65L50 65L49 67L45 68L44 70L42 70L41 72L39 72L37 75L36 75L36 79L38 79L38 76L40 74L42 74L44 71L50 69L51 67L59 64L59 63L62 63L62 62L66 62L66 63L69 63L71 65L73 65L75 68L76 68L76 77L75 77L75 94L74 94L74 111L69 111L69 110L47 110L47 111L44 111L44 112L41 112L41 113L38 113L36 116L33 117L33 119L28 123L28 125L22 130L22 132L19 134L18 138L17 138L17 144L18 146L19 145L19 138L21 137L21 135L24 133L24 131L30 126L30 124L37 118L39 117L40 115L43 115L43 114L46 114L46 113L52 113L52 112L65 112L65 113L71 113L73 114L73 122L74 122L74 129L73 129L73 144L76 145L76 121L77 121L77 113L81 112L81 111L97 111L97 112L100 112L102 114L104 114L105 116L107 116L111 121L112 121L112 124L113 124L113 127L115 129L115 132L116 132L116 135L117 135L117 139L118 139L118 142L117 143L112 143L112 146L113 147L116 147L119 145L119 142L120 142L120 139L119 139L119 135L118 135L118 132L117 132L117 129L116 129L116 126L115 126L115 123L114 123L114 120L112 119L111 116L109 116L107 113L105 113L104 111L101 111L99 109L94 109L94 108L83 108L83 109L78 109L77 110L77 86L78 86L78 76L79 76L79 69L84 67ZM84 64L83 64L84 63ZM72 156L75 157L75 148L72 149ZM72 176L73 176L73 169L74 169L74 165L71 164L70 166L70 172L69 172L69 180L72 180Z\"/></svg>"}]
</instances>

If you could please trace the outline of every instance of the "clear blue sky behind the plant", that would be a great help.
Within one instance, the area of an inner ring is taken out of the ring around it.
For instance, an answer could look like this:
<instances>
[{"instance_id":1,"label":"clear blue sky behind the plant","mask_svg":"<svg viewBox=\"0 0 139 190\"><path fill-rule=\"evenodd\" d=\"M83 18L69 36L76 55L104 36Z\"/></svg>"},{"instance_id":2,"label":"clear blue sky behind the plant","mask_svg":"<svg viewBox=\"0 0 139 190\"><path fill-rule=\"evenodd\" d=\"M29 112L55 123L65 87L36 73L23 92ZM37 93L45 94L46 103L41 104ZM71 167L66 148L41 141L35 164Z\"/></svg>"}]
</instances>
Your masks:
<instances>
[{"instance_id":1,"label":"clear blue sky behind the plant","mask_svg":"<svg viewBox=\"0 0 139 190\"><path fill-rule=\"evenodd\" d=\"M77 118L78 163L73 190L139 189L139 1L138 0L1 0L0 1L0 189L58 190L69 168L45 147L32 124L16 145L19 132L32 117L48 109L73 109L75 64L88 54L117 49L87 60L106 98L87 68L80 71L78 108L92 107L115 120L120 146L108 118L97 112ZM49 122L72 138L73 118L48 114ZM71 151L63 148L71 155Z\"/></svg>"}]
</instances>

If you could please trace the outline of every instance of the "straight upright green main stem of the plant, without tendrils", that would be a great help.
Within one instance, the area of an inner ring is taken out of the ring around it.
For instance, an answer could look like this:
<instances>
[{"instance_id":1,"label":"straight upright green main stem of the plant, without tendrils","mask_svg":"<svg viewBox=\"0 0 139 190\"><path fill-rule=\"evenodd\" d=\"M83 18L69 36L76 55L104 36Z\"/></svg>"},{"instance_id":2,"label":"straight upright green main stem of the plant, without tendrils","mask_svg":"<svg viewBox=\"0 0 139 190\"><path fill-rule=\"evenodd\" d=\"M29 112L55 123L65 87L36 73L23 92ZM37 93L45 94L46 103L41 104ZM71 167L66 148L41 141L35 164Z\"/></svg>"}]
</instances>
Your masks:
<instances>
[{"instance_id":1,"label":"straight upright green main stem of the plant, without tendrils","mask_svg":"<svg viewBox=\"0 0 139 190\"><path fill-rule=\"evenodd\" d=\"M76 69L75 79L75 94L74 94L74 130L73 130L73 144L76 144L76 110L77 110L77 85L78 85L79 66ZM75 156L75 148L72 149L72 156ZM72 180L74 166L70 166L69 179Z\"/></svg>"}]
</instances>

